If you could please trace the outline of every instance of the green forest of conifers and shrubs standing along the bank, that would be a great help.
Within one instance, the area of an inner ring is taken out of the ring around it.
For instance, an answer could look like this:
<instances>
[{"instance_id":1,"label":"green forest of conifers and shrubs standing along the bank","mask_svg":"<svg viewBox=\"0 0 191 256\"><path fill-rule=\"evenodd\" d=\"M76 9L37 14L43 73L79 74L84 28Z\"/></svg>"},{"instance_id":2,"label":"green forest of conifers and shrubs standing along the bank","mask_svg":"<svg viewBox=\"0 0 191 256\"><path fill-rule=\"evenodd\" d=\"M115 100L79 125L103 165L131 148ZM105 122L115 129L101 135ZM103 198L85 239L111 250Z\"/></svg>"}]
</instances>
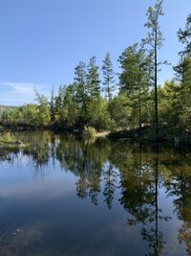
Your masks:
<instances>
[{"instance_id":1,"label":"green forest of conifers and shrubs standing along the bank","mask_svg":"<svg viewBox=\"0 0 191 256\"><path fill-rule=\"evenodd\" d=\"M4 128L65 130L110 130L113 134L147 140L191 142L191 14L178 28L182 45L175 77L159 84L159 71L168 61L159 61L163 36L159 20L162 1L146 12L147 35L128 46L113 68L110 53L96 64L80 61L74 82L52 88L50 98L35 89L36 104L0 109Z\"/></svg>"}]
</instances>

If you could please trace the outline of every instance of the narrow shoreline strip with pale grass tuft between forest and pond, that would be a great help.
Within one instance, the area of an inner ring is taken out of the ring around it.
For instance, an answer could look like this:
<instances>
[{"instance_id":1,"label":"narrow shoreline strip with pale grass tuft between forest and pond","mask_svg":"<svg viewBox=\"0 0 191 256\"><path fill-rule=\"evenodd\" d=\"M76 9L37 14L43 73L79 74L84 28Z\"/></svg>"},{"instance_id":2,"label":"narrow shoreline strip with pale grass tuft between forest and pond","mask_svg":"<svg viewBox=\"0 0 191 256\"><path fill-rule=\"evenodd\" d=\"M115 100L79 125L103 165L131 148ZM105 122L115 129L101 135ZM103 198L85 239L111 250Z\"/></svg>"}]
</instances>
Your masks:
<instances>
[{"instance_id":1,"label":"narrow shoreline strip with pale grass tuft between forest and pond","mask_svg":"<svg viewBox=\"0 0 191 256\"><path fill-rule=\"evenodd\" d=\"M171 146L176 147L191 147L191 135L187 135L184 133L180 133L180 136L176 133L174 134L175 129L172 129L172 133L166 132L164 129L161 129L161 134L159 139L156 140L154 137L153 128L143 128L141 132L141 136L139 137L138 129L121 129L117 131L96 131L94 136L83 134L82 130L74 130L74 129L53 129L53 128L8 128L8 127L1 127L0 128L0 137L1 133L4 132L36 132L36 131L52 131L53 133L58 134L71 134L81 138L105 138L110 140L131 140L138 143L149 143L151 145L166 145L169 144ZM187 135L187 137L186 137ZM21 145L22 142L12 141L6 142L0 139L0 144L11 144L11 145Z\"/></svg>"}]
</instances>

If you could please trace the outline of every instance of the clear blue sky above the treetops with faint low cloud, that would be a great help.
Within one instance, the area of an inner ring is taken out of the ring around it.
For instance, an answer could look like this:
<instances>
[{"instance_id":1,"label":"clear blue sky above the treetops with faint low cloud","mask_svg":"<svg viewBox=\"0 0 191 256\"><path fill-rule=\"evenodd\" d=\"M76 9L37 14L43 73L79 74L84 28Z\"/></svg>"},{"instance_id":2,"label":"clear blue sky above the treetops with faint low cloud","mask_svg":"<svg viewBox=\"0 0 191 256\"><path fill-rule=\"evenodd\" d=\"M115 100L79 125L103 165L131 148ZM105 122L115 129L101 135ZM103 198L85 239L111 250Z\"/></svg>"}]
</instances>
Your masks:
<instances>
[{"instance_id":1,"label":"clear blue sky above the treetops with faint low cloud","mask_svg":"<svg viewBox=\"0 0 191 256\"><path fill-rule=\"evenodd\" d=\"M146 35L146 10L154 0L1 0L0 104L34 103L33 87L46 95L52 86L73 82L78 61L109 51L115 71L121 52ZM159 57L172 64L181 48L177 31L191 13L190 0L164 0ZM173 77L163 67L159 81Z\"/></svg>"}]
</instances>

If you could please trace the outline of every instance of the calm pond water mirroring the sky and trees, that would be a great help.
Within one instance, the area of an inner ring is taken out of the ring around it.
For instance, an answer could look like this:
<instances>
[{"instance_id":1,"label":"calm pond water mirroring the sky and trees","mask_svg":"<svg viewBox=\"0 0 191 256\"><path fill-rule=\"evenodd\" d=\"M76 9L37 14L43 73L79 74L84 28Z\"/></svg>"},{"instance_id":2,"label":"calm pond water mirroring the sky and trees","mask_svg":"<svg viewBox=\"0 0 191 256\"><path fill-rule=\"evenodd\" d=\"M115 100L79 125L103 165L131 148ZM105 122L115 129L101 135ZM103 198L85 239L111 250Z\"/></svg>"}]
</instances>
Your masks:
<instances>
[{"instance_id":1,"label":"calm pond water mirroring the sky and trees","mask_svg":"<svg viewBox=\"0 0 191 256\"><path fill-rule=\"evenodd\" d=\"M0 255L191 255L191 153L50 132L0 148Z\"/></svg>"}]
</instances>

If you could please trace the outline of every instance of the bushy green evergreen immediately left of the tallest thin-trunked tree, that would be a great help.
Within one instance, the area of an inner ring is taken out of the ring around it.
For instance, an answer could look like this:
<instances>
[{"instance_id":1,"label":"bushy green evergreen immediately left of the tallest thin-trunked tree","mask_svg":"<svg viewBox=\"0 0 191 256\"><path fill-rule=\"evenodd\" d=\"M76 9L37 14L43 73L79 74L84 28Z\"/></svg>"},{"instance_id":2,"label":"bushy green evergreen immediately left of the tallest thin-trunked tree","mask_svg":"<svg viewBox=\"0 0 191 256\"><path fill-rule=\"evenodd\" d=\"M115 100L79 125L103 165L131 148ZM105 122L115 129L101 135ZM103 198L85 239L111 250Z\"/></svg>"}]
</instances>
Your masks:
<instances>
[{"instance_id":1,"label":"bushy green evergreen immediately left of the tallest thin-trunked tree","mask_svg":"<svg viewBox=\"0 0 191 256\"><path fill-rule=\"evenodd\" d=\"M144 51L138 49L138 43L125 49L119 57L122 72L119 75L119 93L127 98L127 105L132 108L132 122L138 116L139 131L141 128L141 111L148 100L149 75L148 59ZM138 113L138 114L137 114ZM137 121L136 121L137 122Z\"/></svg>"}]
</instances>

